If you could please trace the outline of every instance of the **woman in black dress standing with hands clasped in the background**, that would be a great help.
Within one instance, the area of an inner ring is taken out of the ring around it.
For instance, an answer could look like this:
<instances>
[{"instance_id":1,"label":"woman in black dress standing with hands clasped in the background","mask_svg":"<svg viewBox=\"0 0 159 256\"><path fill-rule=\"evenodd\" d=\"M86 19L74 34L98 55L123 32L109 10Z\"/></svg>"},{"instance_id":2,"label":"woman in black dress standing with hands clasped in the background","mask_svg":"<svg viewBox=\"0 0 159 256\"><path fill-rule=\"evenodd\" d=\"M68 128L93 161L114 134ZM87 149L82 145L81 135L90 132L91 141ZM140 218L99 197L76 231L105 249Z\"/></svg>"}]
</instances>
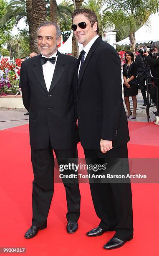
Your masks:
<instances>
[{"instance_id":1,"label":"woman in black dress standing with hands clasped in the background","mask_svg":"<svg viewBox=\"0 0 159 256\"><path fill-rule=\"evenodd\" d=\"M138 93L138 83L137 83L137 64L134 62L134 54L131 51L126 51L125 53L126 63L123 65L123 79L124 79L124 100L125 105L128 110L127 118L131 115L131 119L136 118L136 108L137 108L137 99L136 95ZM129 97L132 97L133 101L133 113L130 109Z\"/></svg>"}]
</instances>

